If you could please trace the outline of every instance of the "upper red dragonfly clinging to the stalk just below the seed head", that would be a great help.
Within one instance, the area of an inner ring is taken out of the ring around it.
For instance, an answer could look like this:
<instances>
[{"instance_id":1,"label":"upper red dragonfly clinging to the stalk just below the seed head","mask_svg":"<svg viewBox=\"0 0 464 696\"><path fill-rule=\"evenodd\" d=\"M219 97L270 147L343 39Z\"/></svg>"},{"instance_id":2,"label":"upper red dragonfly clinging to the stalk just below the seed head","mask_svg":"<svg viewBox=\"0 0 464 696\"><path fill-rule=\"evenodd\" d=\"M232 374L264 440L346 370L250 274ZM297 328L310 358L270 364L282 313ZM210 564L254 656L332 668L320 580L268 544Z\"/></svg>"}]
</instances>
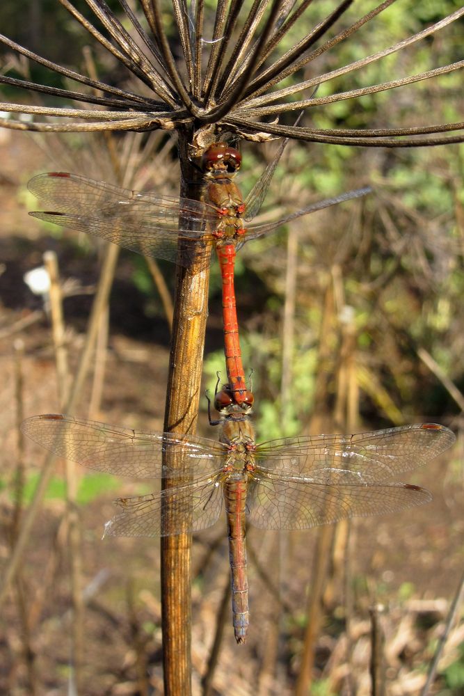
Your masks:
<instances>
[{"instance_id":1,"label":"upper red dragonfly clinging to the stalk just below the seed head","mask_svg":"<svg viewBox=\"0 0 464 696\"><path fill-rule=\"evenodd\" d=\"M249 239L267 235L291 220L364 196L371 190L365 187L348 191L282 219L247 225L262 207L287 141L282 141L273 161L245 200L233 181L241 166L240 152L225 142L214 143L200 158L199 166L205 177L205 195L201 201L121 189L65 172L39 174L28 184L34 196L49 206L47 211L31 212L33 217L88 232L131 251L189 266L195 248L195 262L202 269L209 264L211 250L216 248L222 277L227 380L239 404L246 400L247 388L234 290L237 249ZM177 253L178 248L182 253Z\"/></svg>"}]
</instances>

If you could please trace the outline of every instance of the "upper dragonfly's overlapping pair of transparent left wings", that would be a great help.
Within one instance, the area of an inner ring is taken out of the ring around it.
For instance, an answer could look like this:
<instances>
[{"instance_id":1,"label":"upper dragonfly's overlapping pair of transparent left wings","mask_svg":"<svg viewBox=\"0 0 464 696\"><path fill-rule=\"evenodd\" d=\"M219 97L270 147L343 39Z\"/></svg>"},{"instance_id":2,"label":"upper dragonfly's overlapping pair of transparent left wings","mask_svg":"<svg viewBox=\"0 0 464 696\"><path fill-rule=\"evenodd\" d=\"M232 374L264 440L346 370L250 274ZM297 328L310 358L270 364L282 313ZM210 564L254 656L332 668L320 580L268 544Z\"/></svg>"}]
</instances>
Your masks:
<instances>
[{"instance_id":1,"label":"upper dragonfly's overlapping pair of transparent left wings","mask_svg":"<svg viewBox=\"0 0 464 696\"><path fill-rule=\"evenodd\" d=\"M177 259L177 242L205 243L205 262L213 239L209 228L217 221L214 207L189 198L157 196L121 189L77 174L45 173L33 177L29 191L49 206L33 217L86 232L153 258ZM184 218L184 228L179 219ZM190 227L197 230L191 230ZM206 231L205 231L206 230ZM184 265L189 264L185 255Z\"/></svg>"}]
</instances>

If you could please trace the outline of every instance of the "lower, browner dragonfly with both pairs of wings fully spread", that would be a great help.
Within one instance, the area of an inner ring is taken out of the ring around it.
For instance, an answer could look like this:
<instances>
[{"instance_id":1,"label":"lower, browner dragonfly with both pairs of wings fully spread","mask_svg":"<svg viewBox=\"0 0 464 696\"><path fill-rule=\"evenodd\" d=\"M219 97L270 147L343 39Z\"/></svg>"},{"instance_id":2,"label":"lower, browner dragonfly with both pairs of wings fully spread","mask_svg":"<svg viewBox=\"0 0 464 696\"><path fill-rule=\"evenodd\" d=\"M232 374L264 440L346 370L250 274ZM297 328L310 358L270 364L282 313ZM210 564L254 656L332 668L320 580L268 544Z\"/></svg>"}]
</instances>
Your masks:
<instances>
[{"instance_id":1,"label":"lower, browner dragonfly with both pairs of wings fully spread","mask_svg":"<svg viewBox=\"0 0 464 696\"><path fill-rule=\"evenodd\" d=\"M399 512L432 496L391 482L455 441L451 430L419 423L354 435L316 435L255 443L253 394L237 404L230 385L217 390L218 441L170 432L144 433L60 414L32 416L22 431L83 466L165 482L161 491L120 498L105 534L154 537L214 525L225 507L230 548L232 619L237 643L248 635L246 522L260 529L302 530L354 516ZM174 468L172 461L182 462Z\"/></svg>"}]
</instances>

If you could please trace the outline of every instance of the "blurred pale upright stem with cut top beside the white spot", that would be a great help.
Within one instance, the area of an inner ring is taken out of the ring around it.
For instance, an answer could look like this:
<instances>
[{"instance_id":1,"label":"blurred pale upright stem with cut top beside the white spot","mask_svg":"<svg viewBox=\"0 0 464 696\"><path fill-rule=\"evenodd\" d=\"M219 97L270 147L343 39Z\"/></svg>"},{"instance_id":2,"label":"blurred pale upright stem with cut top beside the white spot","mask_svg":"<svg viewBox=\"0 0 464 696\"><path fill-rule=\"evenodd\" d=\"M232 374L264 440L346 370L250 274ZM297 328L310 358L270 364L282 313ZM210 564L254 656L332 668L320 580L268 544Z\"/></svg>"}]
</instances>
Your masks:
<instances>
[{"instance_id":1,"label":"blurred pale upright stem with cut top beside the white spot","mask_svg":"<svg viewBox=\"0 0 464 696\"><path fill-rule=\"evenodd\" d=\"M60 408L65 406L69 392L70 374L65 349L65 323L63 319L63 297L61 294L58 260L54 251L46 251L43 260L50 279L49 301L51 333L55 352L58 400ZM68 543L72 596L72 679L77 693L81 690L83 665L83 600L82 600L82 539L79 515L77 514L77 473L74 461L66 459L66 514L68 521Z\"/></svg>"}]
</instances>

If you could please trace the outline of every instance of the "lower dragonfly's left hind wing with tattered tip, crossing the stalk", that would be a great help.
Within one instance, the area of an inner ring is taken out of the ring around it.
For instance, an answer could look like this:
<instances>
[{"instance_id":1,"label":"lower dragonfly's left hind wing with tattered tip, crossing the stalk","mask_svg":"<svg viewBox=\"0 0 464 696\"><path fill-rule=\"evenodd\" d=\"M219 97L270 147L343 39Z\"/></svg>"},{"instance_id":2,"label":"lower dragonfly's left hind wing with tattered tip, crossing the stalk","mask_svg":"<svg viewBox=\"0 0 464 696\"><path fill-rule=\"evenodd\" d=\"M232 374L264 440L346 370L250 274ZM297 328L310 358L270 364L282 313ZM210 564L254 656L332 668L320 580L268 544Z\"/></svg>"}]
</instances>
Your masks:
<instances>
[{"instance_id":1,"label":"lower dragonfly's left hind wing with tattered tip, crossing the stalk","mask_svg":"<svg viewBox=\"0 0 464 696\"><path fill-rule=\"evenodd\" d=\"M116 501L123 512L105 524L111 537L166 537L211 527L223 506L223 487L214 480Z\"/></svg>"}]
</instances>

